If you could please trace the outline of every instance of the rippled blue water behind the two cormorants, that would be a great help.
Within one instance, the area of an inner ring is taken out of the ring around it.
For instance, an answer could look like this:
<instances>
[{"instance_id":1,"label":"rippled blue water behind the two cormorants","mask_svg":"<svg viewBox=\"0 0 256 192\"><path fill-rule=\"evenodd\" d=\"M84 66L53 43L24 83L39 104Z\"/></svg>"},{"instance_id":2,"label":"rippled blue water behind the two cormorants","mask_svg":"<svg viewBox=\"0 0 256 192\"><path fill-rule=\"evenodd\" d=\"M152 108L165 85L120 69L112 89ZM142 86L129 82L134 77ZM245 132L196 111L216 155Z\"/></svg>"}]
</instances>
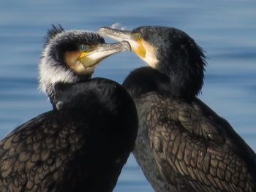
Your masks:
<instances>
[{"instance_id":1,"label":"rippled blue water behind the two cormorants","mask_svg":"<svg viewBox=\"0 0 256 192\"><path fill-rule=\"evenodd\" d=\"M180 28L206 51L208 66L200 99L226 118L256 150L256 1L1 1L0 137L50 110L37 90L37 64L50 25L97 30L122 23ZM109 40L109 39L107 39ZM145 65L134 53L107 58L94 77L122 82ZM131 155L118 191L153 191Z\"/></svg>"}]
</instances>

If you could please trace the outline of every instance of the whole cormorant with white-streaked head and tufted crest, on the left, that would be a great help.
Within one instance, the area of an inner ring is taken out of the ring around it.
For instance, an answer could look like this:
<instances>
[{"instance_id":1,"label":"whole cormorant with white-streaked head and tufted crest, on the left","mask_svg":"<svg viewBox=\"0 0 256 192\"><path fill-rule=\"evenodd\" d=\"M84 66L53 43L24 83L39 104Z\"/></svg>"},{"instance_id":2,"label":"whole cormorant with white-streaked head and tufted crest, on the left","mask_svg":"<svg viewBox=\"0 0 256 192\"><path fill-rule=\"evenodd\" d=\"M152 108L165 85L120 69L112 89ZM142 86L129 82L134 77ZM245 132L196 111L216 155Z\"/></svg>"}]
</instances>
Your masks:
<instances>
[{"instance_id":1,"label":"whole cormorant with white-streaked head and tufted crest, on the left","mask_svg":"<svg viewBox=\"0 0 256 192\"><path fill-rule=\"evenodd\" d=\"M0 142L0 191L113 191L135 145L138 116L117 82L91 78L99 61L129 50L91 31L48 31L39 88L53 110Z\"/></svg>"}]
</instances>

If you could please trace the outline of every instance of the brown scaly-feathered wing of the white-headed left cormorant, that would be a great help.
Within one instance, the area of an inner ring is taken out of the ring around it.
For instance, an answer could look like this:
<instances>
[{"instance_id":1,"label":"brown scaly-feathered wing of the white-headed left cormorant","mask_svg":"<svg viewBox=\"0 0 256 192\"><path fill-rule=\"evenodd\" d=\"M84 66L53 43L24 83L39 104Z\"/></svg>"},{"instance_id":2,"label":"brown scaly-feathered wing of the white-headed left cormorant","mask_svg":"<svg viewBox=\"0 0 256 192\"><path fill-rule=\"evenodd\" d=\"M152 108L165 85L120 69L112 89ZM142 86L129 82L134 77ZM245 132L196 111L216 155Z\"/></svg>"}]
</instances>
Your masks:
<instances>
[{"instance_id":1,"label":"brown scaly-feathered wing of the white-headed left cormorant","mask_svg":"<svg viewBox=\"0 0 256 192\"><path fill-rule=\"evenodd\" d=\"M64 126L57 121L53 112L12 131L0 142L0 191L54 191L64 164L80 147L81 136L73 131L70 123ZM70 143L76 143L75 148Z\"/></svg>"}]
</instances>

